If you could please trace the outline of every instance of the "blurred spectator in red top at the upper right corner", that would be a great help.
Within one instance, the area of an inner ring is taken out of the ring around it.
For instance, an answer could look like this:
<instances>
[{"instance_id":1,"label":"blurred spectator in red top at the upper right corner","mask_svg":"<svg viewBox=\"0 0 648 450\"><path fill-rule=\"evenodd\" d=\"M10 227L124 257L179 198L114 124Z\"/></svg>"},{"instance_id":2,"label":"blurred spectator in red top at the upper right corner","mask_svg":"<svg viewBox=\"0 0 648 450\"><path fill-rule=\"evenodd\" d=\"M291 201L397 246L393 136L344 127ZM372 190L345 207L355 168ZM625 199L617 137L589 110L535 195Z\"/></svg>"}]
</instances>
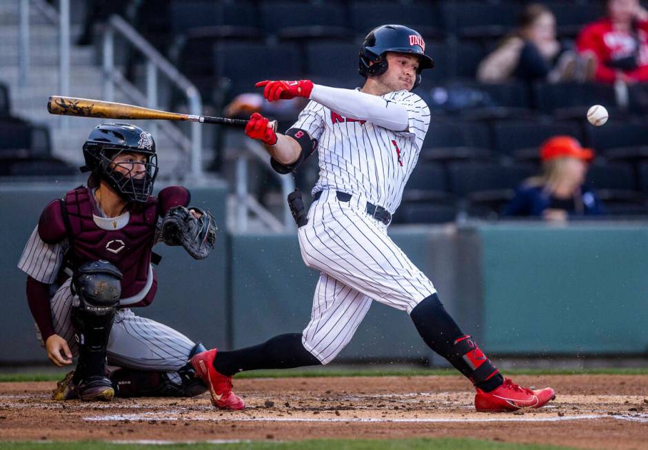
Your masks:
<instances>
[{"instance_id":1,"label":"blurred spectator in red top at the upper right corner","mask_svg":"<svg viewBox=\"0 0 648 450\"><path fill-rule=\"evenodd\" d=\"M607 17L587 25L578 50L595 54L596 81L648 81L648 12L639 0L607 0Z\"/></svg>"}]
</instances>

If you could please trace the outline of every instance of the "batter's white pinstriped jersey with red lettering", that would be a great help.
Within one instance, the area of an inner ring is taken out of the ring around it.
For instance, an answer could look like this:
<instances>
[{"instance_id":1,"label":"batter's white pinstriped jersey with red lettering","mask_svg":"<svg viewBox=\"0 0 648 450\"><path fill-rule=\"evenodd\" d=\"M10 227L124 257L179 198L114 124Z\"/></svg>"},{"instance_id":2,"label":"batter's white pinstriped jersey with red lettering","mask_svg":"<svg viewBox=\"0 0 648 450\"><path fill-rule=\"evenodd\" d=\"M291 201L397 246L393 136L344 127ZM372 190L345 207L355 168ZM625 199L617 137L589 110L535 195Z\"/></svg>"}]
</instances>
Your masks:
<instances>
[{"instance_id":1,"label":"batter's white pinstriped jersey with red lettering","mask_svg":"<svg viewBox=\"0 0 648 450\"><path fill-rule=\"evenodd\" d=\"M412 92L389 92L382 98L407 109L407 131L394 132L343 117L315 101L299 114L292 127L309 132L318 141L320 172L313 193L332 189L361 194L392 214L396 211L418 161L430 114L425 101Z\"/></svg>"}]
</instances>

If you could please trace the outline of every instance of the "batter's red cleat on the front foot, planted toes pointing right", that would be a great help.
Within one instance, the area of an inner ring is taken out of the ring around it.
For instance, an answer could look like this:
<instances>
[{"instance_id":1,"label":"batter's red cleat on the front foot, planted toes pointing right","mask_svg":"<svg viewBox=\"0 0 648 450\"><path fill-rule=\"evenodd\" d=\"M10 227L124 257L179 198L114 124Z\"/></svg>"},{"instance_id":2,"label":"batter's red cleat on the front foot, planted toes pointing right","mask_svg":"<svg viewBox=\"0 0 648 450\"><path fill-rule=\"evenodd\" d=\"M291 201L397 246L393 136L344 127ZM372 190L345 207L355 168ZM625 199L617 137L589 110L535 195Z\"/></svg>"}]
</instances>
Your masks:
<instances>
[{"instance_id":1,"label":"batter's red cleat on the front foot, planted toes pointing right","mask_svg":"<svg viewBox=\"0 0 648 450\"><path fill-rule=\"evenodd\" d=\"M477 388L475 395L475 408L481 412L517 411L523 408L540 408L554 400L554 389L532 390L519 387L514 382L505 378L504 384L490 392Z\"/></svg>"}]
</instances>

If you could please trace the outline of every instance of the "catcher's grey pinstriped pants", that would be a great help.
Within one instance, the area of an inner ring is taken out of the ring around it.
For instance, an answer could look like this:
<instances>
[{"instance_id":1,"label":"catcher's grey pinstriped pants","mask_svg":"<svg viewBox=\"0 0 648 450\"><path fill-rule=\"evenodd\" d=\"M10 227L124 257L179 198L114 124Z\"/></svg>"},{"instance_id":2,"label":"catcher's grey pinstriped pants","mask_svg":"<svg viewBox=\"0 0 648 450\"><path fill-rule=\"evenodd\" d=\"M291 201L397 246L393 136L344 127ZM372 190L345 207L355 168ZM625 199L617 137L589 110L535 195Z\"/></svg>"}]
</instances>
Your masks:
<instances>
[{"instance_id":1,"label":"catcher's grey pinstriped pants","mask_svg":"<svg viewBox=\"0 0 648 450\"><path fill-rule=\"evenodd\" d=\"M78 354L70 312L75 296L68 278L50 300L54 331L64 338L74 356ZM108 365L131 369L176 371L187 364L194 342L155 320L119 309L108 338Z\"/></svg>"}]
</instances>

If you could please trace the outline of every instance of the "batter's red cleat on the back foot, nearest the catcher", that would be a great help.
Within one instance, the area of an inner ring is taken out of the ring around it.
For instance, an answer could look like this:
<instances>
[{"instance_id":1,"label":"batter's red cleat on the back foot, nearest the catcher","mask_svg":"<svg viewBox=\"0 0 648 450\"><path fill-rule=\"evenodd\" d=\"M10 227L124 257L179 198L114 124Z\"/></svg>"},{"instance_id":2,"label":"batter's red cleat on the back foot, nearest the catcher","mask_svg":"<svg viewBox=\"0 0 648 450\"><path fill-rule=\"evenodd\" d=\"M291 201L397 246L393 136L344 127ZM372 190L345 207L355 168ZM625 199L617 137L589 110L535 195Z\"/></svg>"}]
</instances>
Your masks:
<instances>
[{"instance_id":1,"label":"batter's red cleat on the back foot, nearest the catcher","mask_svg":"<svg viewBox=\"0 0 648 450\"><path fill-rule=\"evenodd\" d=\"M245 402L232 392L232 377L219 374L214 369L214 358L219 349L203 351L191 358L196 375L210 388L212 405L219 409L243 409Z\"/></svg>"}]
</instances>

